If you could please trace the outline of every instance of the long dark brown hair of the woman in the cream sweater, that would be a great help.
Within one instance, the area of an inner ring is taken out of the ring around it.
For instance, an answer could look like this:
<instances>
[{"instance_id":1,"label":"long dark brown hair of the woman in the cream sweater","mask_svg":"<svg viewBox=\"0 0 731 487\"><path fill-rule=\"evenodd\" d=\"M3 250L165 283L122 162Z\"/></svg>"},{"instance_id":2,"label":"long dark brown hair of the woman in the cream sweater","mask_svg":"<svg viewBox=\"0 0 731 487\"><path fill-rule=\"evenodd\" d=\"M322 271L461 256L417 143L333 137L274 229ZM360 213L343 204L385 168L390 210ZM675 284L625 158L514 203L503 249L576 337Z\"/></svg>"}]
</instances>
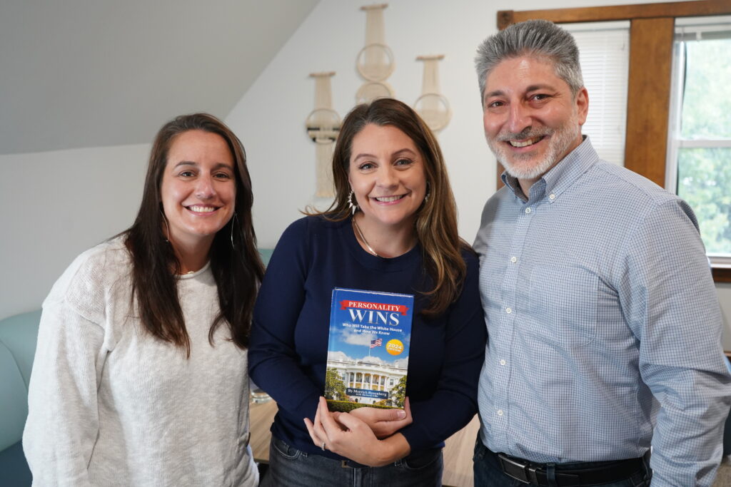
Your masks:
<instances>
[{"instance_id":1,"label":"long dark brown hair of the woman in the cream sweater","mask_svg":"<svg viewBox=\"0 0 731 487\"><path fill-rule=\"evenodd\" d=\"M207 113L181 115L165 123L152 145L140 211L135 223L123 235L132 254L132 299L137 302L143 327L154 337L185 348L187 356L190 356L190 337L178 301L175 277L181 266L163 233L160 186L173 140L190 130L220 135L234 159L235 217L216 233L210 251L221 308L208 332L211 345L216 329L226 321L232 341L239 348L249 346L251 314L264 275L251 222L251 178L240 140L221 120Z\"/></svg>"}]
</instances>

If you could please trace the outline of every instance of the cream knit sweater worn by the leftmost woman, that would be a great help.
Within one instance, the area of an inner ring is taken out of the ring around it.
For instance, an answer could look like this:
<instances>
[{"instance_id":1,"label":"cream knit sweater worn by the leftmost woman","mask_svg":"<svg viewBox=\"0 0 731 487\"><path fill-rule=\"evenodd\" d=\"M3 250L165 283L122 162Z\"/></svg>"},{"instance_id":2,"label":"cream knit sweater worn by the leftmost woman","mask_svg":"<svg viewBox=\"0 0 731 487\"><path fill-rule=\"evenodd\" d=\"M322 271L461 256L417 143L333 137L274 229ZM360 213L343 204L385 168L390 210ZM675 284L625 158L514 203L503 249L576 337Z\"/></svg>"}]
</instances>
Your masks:
<instances>
[{"instance_id":1,"label":"cream knit sweater worn by the leftmost woman","mask_svg":"<svg viewBox=\"0 0 731 487\"><path fill-rule=\"evenodd\" d=\"M23 433L34 486L256 486L246 351L210 267L180 277L191 340L151 337L130 309L121 239L81 254L43 303Z\"/></svg>"}]
</instances>

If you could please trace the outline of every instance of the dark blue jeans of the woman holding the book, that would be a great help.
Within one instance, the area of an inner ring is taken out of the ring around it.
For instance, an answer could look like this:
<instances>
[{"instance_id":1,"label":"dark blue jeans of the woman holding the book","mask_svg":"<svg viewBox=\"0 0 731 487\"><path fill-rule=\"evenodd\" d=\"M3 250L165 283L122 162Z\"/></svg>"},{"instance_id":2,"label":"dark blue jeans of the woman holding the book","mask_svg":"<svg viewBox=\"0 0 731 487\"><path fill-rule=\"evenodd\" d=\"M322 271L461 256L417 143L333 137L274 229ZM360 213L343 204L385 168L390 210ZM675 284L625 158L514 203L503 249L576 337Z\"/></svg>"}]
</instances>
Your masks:
<instances>
[{"instance_id":1,"label":"dark blue jeans of the woman holding the book","mask_svg":"<svg viewBox=\"0 0 731 487\"><path fill-rule=\"evenodd\" d=\"M385 467L342 467L341 461L306 453L272 437L269 469L261 487L439 487L442 449L424 450Z\"/></svg>"}]
</instances>

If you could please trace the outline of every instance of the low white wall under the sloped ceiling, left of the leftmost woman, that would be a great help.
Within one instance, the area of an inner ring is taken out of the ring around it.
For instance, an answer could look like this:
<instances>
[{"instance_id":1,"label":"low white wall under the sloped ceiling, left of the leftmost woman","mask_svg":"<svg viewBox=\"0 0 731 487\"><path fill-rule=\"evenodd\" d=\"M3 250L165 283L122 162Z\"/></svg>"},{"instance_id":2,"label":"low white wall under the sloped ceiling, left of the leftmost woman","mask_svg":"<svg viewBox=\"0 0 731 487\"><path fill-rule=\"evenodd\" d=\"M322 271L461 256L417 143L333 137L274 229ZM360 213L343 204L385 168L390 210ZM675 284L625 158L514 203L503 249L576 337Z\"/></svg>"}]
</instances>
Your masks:
<instances>
[{"instance_id":1,"label":"low white wall under the sloped ceiling, left of the leftmost woman","mask_svg":"<svg viewBox=\"0 0 731 487\"><path fill-rule=\"evenodd\" d=\"M75 256L132 224L149 150L0 156L0 319L37 310Z\"/></svg>"}]
</instances>

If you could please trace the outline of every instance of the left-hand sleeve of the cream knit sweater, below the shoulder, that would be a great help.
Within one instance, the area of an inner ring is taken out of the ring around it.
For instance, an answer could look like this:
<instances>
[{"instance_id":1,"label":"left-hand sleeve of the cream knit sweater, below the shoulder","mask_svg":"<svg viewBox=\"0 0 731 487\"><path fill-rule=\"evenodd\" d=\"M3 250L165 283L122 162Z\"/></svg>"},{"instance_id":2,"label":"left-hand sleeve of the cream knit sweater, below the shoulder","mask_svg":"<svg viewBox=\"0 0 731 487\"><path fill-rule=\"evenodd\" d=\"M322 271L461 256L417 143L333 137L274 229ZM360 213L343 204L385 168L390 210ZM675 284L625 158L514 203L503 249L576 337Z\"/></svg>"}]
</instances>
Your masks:
<instances>
[{"instance_id":1,"label":"left-hand sleeve of the cream knit sweater, below the shoulder","mask_svg":"<svg viewBox=\"0 0 731 487\"><path fill-rule=\"evenodd\" d=\"M67 302L44 305L23 431L34 486L91 486L103 342L102 327Z\"/></svg>"}]
</instances>

